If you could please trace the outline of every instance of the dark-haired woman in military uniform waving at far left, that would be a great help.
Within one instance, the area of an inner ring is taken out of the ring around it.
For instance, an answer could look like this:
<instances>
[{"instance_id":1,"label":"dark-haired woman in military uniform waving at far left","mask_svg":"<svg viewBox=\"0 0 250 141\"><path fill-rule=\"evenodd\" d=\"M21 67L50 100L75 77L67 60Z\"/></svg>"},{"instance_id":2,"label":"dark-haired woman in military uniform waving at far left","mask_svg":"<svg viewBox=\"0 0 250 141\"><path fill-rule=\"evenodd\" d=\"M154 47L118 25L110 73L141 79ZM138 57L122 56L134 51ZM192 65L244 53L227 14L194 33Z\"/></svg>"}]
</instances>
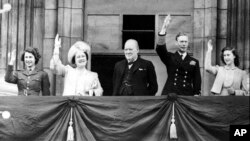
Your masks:
<instances>
[{"instance_id":1,"label":"dark-haired woman in military uniform waving at far left","mask_svg":"<svg viewBox=\"0 0 250 141\"><path fill-rule=\"evenodd\" d=\"M24 62L25 69L14 71L13 65L16 62L16 50L12 51L5 81L17 84L18 95L39 96L40 92L43 96L50 95L48 74L36 67L40 58L41 56L37 48L28 47L21 55L21 61Z\"/></svg>"}]
</instances>

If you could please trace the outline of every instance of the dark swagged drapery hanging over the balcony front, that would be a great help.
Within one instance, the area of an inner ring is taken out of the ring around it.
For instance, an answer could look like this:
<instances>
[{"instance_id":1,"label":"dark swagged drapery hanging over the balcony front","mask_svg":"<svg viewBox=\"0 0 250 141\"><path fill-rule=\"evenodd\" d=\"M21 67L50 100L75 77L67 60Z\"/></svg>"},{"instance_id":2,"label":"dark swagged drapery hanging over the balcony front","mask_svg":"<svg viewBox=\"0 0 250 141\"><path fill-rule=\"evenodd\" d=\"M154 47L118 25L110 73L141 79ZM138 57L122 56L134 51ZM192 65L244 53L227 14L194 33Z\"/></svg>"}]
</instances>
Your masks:
<instances>
[{"instance_id":1,"label":"dark swagged drapery hanging over the balcony front","mask_svg":"<svg viewBox=\"0 0 250 141\"><path fill-rule=\"evenodd\" d=\"M1 141L168 141L175 103L178 141L227 141L249 124L249 97L0 97Z\"/></svg>"}]
</instances>

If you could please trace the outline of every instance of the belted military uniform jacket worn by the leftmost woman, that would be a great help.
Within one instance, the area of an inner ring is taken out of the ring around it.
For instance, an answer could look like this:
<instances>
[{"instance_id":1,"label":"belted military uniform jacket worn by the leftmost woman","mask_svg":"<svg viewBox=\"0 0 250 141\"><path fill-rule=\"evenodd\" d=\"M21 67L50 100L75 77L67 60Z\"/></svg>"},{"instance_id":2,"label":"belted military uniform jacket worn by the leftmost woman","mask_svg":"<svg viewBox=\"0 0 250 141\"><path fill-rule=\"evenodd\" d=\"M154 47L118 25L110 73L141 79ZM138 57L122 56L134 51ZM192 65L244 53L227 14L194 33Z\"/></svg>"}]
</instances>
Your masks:
<instances>
[{"instance_id":1,"label":"belted military uniform jacket worn by the leftmost woman","mask_svg":"<svg viewBox=\"0 0 250 141\"><path fill-rule=\"evenodd\" d=\"M13 71L13 66L9 65L6 71L5 81L17 84L18 95L39 96L40 92L42 92L43 96L50 95L48 74L37 68L29 74L27 70Z\"/></svg>"}]
</instances>

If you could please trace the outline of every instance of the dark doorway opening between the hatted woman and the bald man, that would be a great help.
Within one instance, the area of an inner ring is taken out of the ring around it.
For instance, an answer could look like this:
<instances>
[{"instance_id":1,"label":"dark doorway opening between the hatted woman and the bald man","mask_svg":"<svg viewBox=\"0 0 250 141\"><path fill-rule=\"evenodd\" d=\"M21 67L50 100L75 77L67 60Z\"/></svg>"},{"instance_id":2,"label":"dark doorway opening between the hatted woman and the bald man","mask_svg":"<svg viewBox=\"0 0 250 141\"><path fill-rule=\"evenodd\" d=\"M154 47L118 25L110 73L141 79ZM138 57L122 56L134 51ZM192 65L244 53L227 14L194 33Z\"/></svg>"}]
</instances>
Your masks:
<instances>
[{"instance_id":1,"label":"dark doorway opening between the hatted woman and the bald man","mask_svg":"<svg viewBox=\"0 0 250 141\"><path fill-rule=\"evenodd\" d=\"M115 63L124 59L124 55L92 55L91 70L98 73L104 96L113 92L113 72Z\"/></svg>"}]
</instances>

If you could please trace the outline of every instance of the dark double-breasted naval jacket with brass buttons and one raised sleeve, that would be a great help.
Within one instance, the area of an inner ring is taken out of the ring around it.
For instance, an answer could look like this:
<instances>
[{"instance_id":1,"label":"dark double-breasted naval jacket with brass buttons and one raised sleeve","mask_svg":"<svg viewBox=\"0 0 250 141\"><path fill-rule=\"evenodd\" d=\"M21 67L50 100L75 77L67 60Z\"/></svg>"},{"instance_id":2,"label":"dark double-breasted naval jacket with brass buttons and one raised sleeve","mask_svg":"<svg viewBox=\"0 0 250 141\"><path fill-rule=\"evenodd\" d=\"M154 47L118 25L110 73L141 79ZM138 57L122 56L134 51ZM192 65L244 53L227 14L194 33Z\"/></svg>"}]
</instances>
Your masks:
<instances>
[{"instance_id":1,"label":"dark double-breasted naval jacket with brass buttons and one raised sleeve","mask_svg":"<svg viewBox=\"0 0 250 141\"><path fill-rule=\"evenodd\" d=\"M168 73L162 95L168 93L177 93L178 95L200 94L201 74L198 60L188 54L182 60L178 52L168 52L166 44L157 45L156 52L166 65Z\"/></svg>"}]
</instances>

